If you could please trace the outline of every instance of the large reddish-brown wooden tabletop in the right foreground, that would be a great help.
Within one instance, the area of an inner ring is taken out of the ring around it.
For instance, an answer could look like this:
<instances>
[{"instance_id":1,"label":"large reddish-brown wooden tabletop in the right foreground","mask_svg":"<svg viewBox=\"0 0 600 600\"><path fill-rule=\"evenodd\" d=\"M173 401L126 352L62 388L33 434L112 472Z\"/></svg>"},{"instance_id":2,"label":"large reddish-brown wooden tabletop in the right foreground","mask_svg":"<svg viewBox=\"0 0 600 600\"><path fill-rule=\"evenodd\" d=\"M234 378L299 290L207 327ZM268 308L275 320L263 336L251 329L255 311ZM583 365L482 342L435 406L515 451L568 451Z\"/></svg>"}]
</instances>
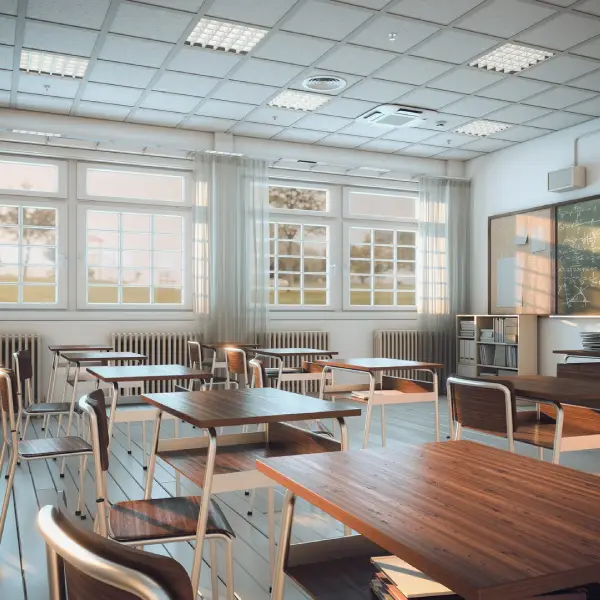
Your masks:
<instances>
[{"instance_id":1,"label":"large reddish-brown wooden tabletop in the right foreground","mask_svg":"<svg viewBox=\"0 0 600 600\"><path fill-rule=\"evenodd\" d=\"M600 573L600 477L474 442L259 459L297 496L467 600Z\"/></svg>"}]
</instances>

